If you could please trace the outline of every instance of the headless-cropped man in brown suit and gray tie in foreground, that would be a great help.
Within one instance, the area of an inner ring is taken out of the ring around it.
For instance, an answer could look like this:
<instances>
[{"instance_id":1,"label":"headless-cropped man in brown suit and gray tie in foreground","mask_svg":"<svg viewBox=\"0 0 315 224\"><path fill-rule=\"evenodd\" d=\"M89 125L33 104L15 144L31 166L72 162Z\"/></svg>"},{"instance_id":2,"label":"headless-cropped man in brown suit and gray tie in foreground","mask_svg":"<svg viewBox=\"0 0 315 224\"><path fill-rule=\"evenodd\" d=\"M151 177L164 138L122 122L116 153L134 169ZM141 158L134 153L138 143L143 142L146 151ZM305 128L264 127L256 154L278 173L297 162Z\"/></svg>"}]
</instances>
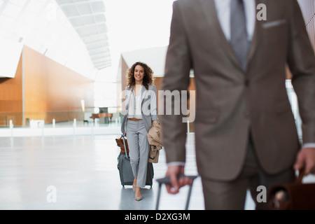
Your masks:
<instances>
[{"instance_id":1,"label":"headless-cropped man in brown suit and gray tie in foreground","mask_svg":"<svg viewBox=\"0 0 315 224\"><path fill-rule=\"evenodd\" d=\"M263 3L267 20L258 20ZM195 74L195 147L205 209L244 209L246 190L315 174L315 57L296 0L174 2L162 90L187 90ZM286 92L293 74L302 118L300 145ZM167 106L176 105L165 102ZM184 174L183 115L163 115L169 193ZM266 203L256 202L257 209Z\"/></svg>"}]
</instances>

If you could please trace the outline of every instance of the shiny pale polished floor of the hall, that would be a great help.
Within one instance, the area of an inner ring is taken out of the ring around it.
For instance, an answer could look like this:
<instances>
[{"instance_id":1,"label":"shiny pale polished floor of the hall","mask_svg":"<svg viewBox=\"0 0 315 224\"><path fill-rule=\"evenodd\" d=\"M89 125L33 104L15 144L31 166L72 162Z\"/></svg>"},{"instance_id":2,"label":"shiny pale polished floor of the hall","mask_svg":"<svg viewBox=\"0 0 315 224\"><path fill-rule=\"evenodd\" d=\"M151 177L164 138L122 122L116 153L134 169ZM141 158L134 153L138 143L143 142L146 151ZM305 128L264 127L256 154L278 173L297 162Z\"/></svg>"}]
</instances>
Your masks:
<instances>
[{"instance_id":1,"label":"shiny pale polished floor of the hall","mask_svg":"<svg viewBox=\"0 0 315 224\"><path fill-rule=\"evenodd\" d=\"M0 138L0 209L155 209L158 184L134 200L131 186L121 186L117 169L119 135ZM186 174L195 175L194 137L188 135ZM165 152L154 164L155 179L166 172ZM185 208L188 188L168 195L162 188L160 209ZM200 178L189 209L204 209ZM250 198L245 209L253 209Z\"/></svg>"}]
</instances>

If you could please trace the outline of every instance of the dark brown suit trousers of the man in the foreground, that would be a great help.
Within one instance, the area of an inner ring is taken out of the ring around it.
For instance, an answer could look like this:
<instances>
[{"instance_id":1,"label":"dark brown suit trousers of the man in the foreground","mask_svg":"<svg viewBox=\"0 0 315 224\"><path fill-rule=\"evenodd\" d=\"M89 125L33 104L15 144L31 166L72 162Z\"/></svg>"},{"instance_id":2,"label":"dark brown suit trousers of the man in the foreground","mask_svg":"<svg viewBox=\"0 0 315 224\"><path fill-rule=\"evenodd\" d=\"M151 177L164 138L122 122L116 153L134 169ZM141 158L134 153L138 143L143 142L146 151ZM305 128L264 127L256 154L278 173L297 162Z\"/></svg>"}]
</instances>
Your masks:
<instances>
[{"instance_id":1,"label":"dark brown suit trousers of the man in the foreground","mask_svg":"<svg viewBox=\"0 0 315 224\"><path fill-rule=\"evenodd\" d=\"M286 155L283 155L286 156ZM267 209L266 201L262 199L269 193L270 187L280 183L292 183L295 180L294 169L287 169L280 174L265 174L260 168L255 149L250 139L244 167L237 179L232 181L215 181L202 178L204 191L204 205L206 210L243 210L246 202L247 190L250 190L251 197L255 202L256 210ZM261 195L261 188L264 186L267 191ZM259 198L259 200L258 200Z\"/></svg>"}]
</instances>

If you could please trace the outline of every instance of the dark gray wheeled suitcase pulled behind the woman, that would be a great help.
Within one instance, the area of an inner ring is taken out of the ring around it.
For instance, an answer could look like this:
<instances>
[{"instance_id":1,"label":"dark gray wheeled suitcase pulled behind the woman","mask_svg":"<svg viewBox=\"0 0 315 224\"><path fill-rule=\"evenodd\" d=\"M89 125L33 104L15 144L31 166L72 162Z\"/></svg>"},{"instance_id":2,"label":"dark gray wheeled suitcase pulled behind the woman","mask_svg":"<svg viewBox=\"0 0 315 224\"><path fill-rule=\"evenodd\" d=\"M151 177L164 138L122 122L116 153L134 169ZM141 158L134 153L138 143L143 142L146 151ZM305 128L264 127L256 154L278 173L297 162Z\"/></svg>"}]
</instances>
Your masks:
<instances>
[{"instance_id":1,"label":"dark gray wheeled suitcase pulled behind the woman","mask_svg":"<svg viewBox=\"0 0 315 224\"><path fill-rule=\"evenodd\" d=\"M130 165L130 157L127 154L127 149L125 145L125 137L123 137L124 146L125 146L125 153L120 153L118 155L118 165L117 168L120 174L120 183L123 187L125 185L131 185L134 183L134 174L132 173L132 167ZM154 177L154 170L152 162L148 162L148 168L146 172L146 186L153 185L153 177Z\"/></svg>"}]
</instances>

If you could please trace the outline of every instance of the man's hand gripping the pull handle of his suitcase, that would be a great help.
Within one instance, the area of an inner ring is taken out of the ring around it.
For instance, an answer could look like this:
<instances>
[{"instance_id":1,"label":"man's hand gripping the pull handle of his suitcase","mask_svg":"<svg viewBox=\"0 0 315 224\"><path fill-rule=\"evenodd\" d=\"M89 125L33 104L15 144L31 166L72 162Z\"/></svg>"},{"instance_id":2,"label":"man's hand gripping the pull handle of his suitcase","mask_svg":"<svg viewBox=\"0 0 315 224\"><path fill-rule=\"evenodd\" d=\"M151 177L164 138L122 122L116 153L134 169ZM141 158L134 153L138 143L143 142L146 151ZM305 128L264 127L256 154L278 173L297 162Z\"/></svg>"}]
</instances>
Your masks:
<instances>
[{"instance_id":1,"label":"man's hand gripping the pull handle of his suitcase","mask_svg":"<svg viewBox=\"0 0 315 224\"><path fill-rule=\"evenodd\" d=\"M188 177L180 178L177 177L179 175L184 175L184 167L179 165L170 165L167 168L167 173L165 176L169 176L169 179L171 181L170 185L166 185L167 192L169 194L175 195L179 193L179 188L186 186L186 185L192 185L193 181L190 180Z\"/></svg>"}]
</instances>

